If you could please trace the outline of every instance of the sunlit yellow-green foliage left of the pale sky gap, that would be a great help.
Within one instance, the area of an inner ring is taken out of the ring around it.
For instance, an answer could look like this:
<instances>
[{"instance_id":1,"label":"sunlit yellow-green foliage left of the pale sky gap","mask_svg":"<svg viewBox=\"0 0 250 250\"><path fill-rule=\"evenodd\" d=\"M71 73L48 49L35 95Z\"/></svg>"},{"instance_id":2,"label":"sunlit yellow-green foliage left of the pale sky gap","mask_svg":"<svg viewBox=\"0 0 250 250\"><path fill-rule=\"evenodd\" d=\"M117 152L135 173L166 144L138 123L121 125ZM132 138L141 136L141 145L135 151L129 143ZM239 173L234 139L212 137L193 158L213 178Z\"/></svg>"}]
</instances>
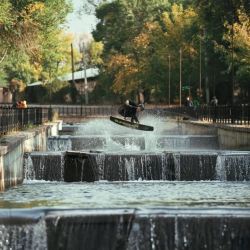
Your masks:
<instances>
[{"instance_id":1,"label":"sunlit yellow-green foliage left of the pale sky gap","mask_svg":"<svg viewBox=\"0 0 250 250\"><path fill-rule=\"evenodd\" d=\"M72 11L68 0L1 1L0 63L9 84L23 88L69 72L72 37L62 25Z\"/></svg>"}]
</instances>

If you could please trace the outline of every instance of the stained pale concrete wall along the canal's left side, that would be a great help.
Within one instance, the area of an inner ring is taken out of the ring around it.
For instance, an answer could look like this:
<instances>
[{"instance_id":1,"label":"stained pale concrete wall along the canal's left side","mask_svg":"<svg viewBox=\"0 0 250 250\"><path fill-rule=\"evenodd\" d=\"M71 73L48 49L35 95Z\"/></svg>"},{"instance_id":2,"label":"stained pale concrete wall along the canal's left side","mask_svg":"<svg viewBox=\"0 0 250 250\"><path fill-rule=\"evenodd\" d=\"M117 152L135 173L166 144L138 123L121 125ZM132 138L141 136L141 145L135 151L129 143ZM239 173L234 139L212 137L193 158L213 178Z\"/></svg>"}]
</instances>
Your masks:
<instances>
[{"instance_id":1,"label":"stained pale concrete wall along the canal's left side","mask_svg":"<svg viewBox=\"0 0 250 250\"><path fill-rule=\"evenodd\" d=\"M23 182L23 155L46 151L47 136L58 135L62 121L4 136L0 141L0 190Z\"/></svg>"}]
</instances>

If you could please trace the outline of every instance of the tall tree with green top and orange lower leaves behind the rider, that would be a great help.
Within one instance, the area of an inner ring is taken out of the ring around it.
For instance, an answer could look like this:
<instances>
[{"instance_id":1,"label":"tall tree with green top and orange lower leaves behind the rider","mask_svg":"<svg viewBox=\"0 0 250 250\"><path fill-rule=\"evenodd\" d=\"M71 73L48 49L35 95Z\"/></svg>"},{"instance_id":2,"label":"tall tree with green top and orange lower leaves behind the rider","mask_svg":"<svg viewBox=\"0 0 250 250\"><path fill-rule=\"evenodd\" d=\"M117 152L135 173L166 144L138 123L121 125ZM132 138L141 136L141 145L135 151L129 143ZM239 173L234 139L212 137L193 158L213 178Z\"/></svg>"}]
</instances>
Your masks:
<instances>
[{"instance_id":1,"label":"tall tree with green top and orange lower leaves behind the rider","mask_svg":"<svg viewBox=\"0 0 250 250\"><path fill-rule=\"evenodd\" d=\"M169 3L166 0L115 0L103 3L97 8L97 18L100 22L92 34L96 41L102 41L104 44L102 59L108 67L104 74L111 74L115 78L113 91L129 94L135 88L139 94L143 85L141 70L144 68L144 58L137 53L140 48L135 47L137 45L134 41L143 37L145 24L160 20L162 11L168 9ZM116 60L120 65L116 65ZM125 62L130 66L129 69L124 69ZM117 70L119 75L115 73ZM127 78L129 74L133 77Z\"/></svg>"}]
</instances>

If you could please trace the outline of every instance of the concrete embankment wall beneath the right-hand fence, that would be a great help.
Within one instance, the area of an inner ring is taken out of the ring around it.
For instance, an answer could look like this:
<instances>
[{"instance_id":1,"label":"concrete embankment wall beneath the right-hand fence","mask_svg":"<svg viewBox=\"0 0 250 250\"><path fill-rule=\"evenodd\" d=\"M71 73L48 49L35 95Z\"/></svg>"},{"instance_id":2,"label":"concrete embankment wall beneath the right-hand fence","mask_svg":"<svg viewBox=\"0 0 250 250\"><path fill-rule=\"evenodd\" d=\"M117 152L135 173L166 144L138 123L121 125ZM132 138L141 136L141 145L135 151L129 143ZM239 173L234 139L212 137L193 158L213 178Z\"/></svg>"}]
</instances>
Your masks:
<instances>
[{"instance_id":1,"label":"concrete embankment wall beneath the right-hand fence","mask_svg":"<svg viewBox=\"0 0 250 250\"><path fill-rule=\"evenodd\" d=\"M221 150L250 150L250 126L180 121L182 134L217 135Z\"/></svg>"}]
</instances>

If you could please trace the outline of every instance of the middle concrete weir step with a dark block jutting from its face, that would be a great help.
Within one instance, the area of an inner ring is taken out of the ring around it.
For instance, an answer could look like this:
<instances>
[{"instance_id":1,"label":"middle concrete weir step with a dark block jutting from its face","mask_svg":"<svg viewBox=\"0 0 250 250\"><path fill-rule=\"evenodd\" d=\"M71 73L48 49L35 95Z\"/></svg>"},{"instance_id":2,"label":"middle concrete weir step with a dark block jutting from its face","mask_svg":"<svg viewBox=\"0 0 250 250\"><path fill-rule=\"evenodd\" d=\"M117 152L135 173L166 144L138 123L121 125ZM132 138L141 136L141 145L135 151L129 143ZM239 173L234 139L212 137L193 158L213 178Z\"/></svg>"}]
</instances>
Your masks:
<instances>
[{"instance_id":1,"label":"middle concrete weir step with a dark block jutting from its face","mask_svg":"<svg viewBox=\"0 0 250 250\"><path fill-rule=\"evenodd\" d=\"M25 178L50 181L249 181L249 152L29 153Z\"/></svg>"}]
</instances>

